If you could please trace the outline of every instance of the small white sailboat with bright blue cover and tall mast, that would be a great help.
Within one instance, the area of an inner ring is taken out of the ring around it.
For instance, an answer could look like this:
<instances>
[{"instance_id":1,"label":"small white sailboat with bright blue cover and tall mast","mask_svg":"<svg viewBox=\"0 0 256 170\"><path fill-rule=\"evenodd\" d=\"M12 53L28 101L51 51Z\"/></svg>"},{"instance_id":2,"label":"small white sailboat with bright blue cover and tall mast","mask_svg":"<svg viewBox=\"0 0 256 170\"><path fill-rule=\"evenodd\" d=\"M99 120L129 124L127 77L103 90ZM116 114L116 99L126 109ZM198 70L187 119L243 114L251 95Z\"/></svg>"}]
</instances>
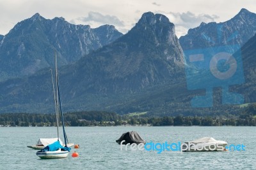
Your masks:
<instances>
[{"instance_id":1,"label":"small white sailboat with bright blue cover and tall mast","mask_svg":"<svg viewBox=\"0 0 256 170\"><path fill-rule=\"evenodd\" d=\"M68 153L70 152L70 148L67 146L67 135L65 132L65 123L63 118L63 112L61 107L61 98L60 98L60 89L59 89L59 81L58 81L58 69L57 69L57 55L55 54L55 70L56 70L56 93L54 89L54 81L52 77L52 86L54 93L54 101L55 101L55 111L56 111L56 121L57 121L57 132L58 132L58 141L49 144L44 149L37 151L36 155L40 158L66 158ZM59 114L61 114L61 123L63 129L63 137L65 146L62 146L60 143L59 137Z\"/></svg>"}]
</instances>

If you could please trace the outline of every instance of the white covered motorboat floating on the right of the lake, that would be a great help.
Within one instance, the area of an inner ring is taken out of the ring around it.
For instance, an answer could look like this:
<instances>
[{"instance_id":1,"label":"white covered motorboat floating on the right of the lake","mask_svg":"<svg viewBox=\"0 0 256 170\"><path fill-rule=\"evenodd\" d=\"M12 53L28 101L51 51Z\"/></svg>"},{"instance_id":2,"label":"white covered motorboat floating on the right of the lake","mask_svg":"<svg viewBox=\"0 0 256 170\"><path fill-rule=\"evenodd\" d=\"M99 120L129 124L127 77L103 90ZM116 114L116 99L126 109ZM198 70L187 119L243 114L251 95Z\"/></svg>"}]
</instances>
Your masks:
<instances>
[{"instance_id":1,"label":"white covered motorboat floating on the right of the lake","mask_svg":"<svg viewBox=\"0 0 256 170\"><path fill-rule=\"evenodd\" d=\"M217 141L212 137L202 137L194 141L182 143L181 151L225 151L225 141Z\"/></svg>"}]
</instances>

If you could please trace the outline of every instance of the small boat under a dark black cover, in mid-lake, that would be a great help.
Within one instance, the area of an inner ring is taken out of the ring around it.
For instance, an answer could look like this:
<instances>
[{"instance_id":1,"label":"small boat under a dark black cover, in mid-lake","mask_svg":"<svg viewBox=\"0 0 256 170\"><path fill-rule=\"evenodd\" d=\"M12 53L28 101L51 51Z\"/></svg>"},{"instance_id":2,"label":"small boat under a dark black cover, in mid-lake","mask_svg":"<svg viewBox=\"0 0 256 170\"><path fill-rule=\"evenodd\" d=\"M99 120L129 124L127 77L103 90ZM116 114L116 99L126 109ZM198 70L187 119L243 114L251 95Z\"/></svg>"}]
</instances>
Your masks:
<instances>
[{"instance_id":1,"label":"small boat under a dark black cover, in mid-lake","mask_svg":"<svg viewBox=\"0 0 256 170\"><path fill-rule=\"evenodd\" d=\"M124 141L124 142L122 142ZM140 135L137 132L126 132L124 134L122 134L122 136L116 140L116 143L118 144L132 144L132 143L136 143L136 144L140 144L143 143L145 144L145 141L143 139L141 139Z\"/></svg>"}]
</instances>

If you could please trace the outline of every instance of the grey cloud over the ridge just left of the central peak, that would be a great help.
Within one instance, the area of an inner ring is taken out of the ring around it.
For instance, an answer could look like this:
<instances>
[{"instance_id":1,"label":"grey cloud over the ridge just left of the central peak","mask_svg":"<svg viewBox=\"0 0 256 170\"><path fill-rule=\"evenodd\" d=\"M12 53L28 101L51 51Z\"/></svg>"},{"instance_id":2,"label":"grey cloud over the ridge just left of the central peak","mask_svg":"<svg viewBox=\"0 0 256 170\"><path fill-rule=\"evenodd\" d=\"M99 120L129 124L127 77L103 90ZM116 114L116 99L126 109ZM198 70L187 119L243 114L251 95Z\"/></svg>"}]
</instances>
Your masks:
<instances>
[{"instance_id":1,"label":"grey cloud over the ridge just left of the central peak","mask_svg":"<svg viewBox=\"0 0 256 170\"><path fill-rule=\"evenodd\" d=\"M118 27L124 27L124 21L119 20L114 15L102 15L99 12L89 12L87 17L79 17L83 22L97 22L99 24L111 24Z\"/></svg>"}]
</instances>

